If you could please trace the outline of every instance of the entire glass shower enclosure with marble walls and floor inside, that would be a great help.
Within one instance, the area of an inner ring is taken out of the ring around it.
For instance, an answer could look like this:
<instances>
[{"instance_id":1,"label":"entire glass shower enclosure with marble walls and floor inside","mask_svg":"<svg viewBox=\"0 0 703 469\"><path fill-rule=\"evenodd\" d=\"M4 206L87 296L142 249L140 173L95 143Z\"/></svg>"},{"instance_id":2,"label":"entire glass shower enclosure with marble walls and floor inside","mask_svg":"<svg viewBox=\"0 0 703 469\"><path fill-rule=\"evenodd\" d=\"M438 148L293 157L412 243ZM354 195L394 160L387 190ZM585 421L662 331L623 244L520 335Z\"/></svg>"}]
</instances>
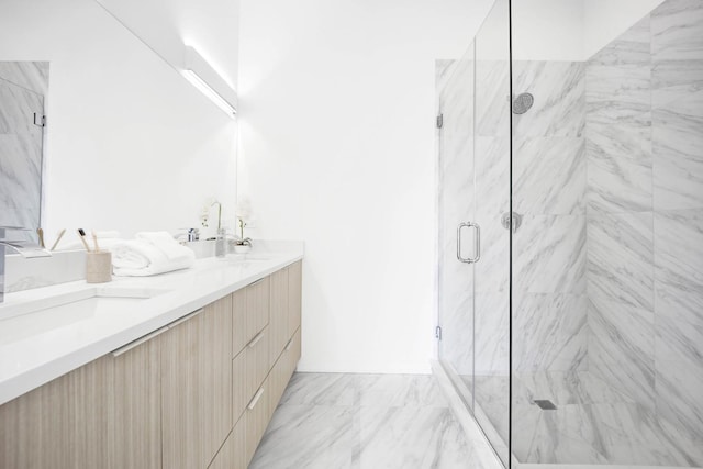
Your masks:
<instances>
[{"instance_id":1,"label":"entire glass shower enclosure with marble walls and floor inside","mask_svg":"<svg viewBox=\"0 0 703 469\"><path fill-rule=\"evenodd\" d=\"M501 462L703 467L703 1L496 0L437 108L439 362Z\"/></svg>"}]
</instances>

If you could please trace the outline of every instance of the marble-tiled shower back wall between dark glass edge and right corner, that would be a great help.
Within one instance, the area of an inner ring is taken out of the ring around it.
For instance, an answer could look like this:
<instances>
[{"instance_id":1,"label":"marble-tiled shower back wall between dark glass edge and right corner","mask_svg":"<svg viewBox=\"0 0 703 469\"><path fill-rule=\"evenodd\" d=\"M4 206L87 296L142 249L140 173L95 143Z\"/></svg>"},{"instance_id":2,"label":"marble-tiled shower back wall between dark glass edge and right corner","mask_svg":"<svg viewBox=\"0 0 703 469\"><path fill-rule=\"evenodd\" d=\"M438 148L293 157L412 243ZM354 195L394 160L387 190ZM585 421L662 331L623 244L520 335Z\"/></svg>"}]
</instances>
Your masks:
<instances>
[{"instance_id":1,"label":"marble-tiled shower back wall between dark glass edge and right corner","mask_svg":"<svg viewBox=\"0 0 703 469\"><path fill-rule=\"evenodd\" d=\"M584 64L514 62L513 362L517 373L588 368ZM507 236L507 232L505 232Z\"/></svg>"}]
</instances>

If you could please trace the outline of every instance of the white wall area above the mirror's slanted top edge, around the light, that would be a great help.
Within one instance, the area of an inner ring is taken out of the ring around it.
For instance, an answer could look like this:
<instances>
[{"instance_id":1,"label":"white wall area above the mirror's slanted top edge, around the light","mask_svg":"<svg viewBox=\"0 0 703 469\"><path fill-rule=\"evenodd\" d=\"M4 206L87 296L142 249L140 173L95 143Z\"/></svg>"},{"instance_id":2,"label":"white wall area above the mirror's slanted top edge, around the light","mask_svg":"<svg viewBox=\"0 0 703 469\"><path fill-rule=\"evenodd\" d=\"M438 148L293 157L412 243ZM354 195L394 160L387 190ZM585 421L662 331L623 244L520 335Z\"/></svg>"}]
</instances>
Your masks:
<instances>
[{"instance_id":1,"label":"white wall area above the mirror's slanted top edge, around the light","mask_svg":"<svg viewBox=\"0 0 703 469\"><path fill-rule=\"evenodd\" d=\"M196 47L236 88L239 0L97 1L175 67Z\"/></svg>"}]
</instances>

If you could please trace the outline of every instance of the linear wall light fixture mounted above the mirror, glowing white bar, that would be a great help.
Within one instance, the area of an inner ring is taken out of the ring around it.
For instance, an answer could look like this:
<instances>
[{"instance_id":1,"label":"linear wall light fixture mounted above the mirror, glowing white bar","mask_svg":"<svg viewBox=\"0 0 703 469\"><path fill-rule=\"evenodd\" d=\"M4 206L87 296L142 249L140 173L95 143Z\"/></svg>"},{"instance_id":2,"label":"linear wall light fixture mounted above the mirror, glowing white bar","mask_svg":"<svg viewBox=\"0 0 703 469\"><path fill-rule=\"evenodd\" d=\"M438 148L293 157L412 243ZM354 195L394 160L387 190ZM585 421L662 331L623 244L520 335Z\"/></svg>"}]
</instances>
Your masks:
<instances>
[{"instance_id":1,"label":"linear wall light fixture mounted above the mirror, glowing white bar","mask_svg":"<svg viewBox=\"0 0 703 469\"><path fill-rule=\"evenodd\" d=\"M208 62L190 46L186 46L186 67L183 77L200 92L210 98L217 108L222 109L230 116L237 113L236 92L215 71Z\"/></svg>"}]
</instances>

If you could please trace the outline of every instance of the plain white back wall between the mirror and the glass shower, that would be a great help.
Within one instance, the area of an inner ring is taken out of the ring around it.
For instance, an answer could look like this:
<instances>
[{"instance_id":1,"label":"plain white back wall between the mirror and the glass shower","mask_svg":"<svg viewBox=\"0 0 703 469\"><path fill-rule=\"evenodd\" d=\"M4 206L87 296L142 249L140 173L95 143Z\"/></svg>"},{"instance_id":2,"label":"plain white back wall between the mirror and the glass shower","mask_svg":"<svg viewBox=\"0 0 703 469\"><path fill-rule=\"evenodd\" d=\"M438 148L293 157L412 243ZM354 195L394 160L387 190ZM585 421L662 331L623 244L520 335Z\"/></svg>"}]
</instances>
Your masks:
<instances>
[{"instance_id":1,"label":"plain white back wall between the mirror and the glass shower","mask_svg":"<svg viewBox=\"0 0 703 469\"><path fill-rule=\"evenodd\" d=\"M300 370L429 370L434 60L490 3L242 2L241 194L305 241Z\"/></svg>"}]
</instances>

